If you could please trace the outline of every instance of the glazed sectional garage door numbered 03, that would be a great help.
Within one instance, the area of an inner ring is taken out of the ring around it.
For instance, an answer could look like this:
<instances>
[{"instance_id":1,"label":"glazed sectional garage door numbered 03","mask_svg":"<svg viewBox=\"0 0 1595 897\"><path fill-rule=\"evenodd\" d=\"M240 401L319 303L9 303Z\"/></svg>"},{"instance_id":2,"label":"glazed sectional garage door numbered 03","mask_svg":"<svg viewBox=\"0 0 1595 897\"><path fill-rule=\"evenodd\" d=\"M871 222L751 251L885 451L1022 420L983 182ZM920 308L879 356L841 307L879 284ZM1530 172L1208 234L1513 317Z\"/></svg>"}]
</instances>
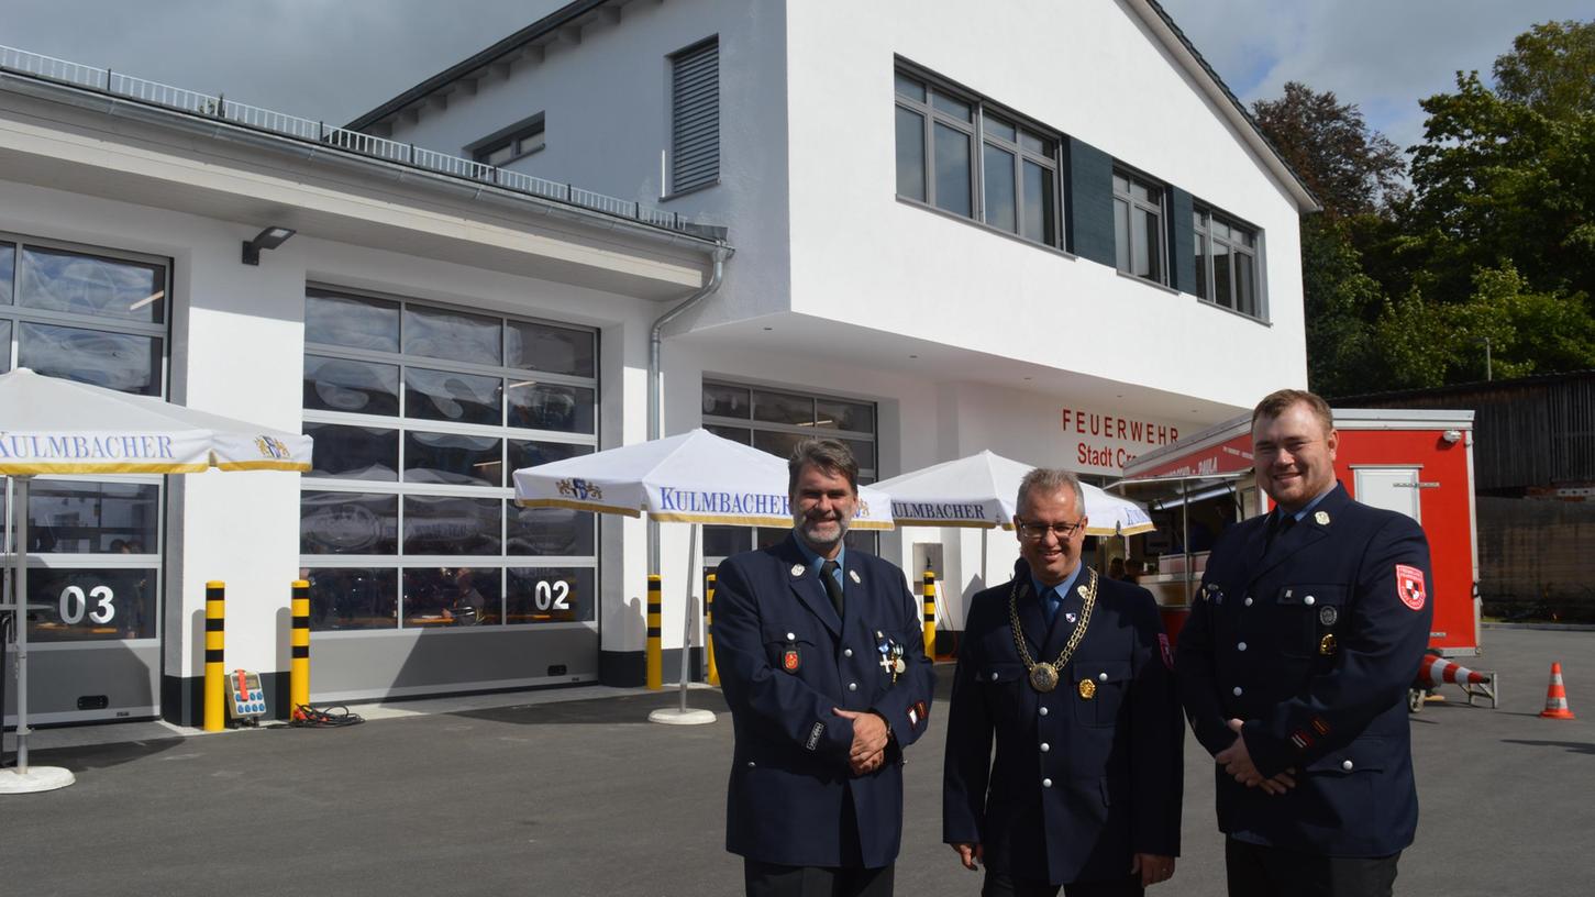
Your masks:
<instances>
[{"instance_id":1,"label":"glazed sectional garage door numbered 03","mask_svg":"<svg viewBox=\"0 0 1595 897\"><path fill-rule=\"evenodd\" d=\"M0 370L30 367L164 397L169 289L164 259L0 235ZM5 527L11 485L3 490ZM33 479L32 721L160 712L163 490L158 476ZM0 677L8 712L16 707L11 678L10 670Z\"/></svg>"}]
</instances>

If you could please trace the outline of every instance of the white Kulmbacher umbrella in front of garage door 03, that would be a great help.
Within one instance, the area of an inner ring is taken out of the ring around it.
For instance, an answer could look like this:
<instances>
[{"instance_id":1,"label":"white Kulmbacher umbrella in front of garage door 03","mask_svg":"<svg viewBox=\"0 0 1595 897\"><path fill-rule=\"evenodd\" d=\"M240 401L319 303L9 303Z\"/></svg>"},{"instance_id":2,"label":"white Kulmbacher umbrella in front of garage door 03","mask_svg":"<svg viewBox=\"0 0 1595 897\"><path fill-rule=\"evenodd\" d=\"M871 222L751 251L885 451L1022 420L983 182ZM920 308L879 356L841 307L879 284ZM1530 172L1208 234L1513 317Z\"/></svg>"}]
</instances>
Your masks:
<instances>
[{"instance_id":1,"label":"white Kulmbacher umbrella in front of garage door 03","mask_svg":"<svg viewBox=\"0 0 1595 897\"><path fill-rule=\"evenodd\" d=\"M26 367L0 373L0 474L16 484L10 501L16 645L16 766L0 769L0 793L70 785L56 766L27 763L27 503L37 474L187 474L222 471L308 471L311 439L152 396L131 396Z\"/></svg>"}]
</instances>

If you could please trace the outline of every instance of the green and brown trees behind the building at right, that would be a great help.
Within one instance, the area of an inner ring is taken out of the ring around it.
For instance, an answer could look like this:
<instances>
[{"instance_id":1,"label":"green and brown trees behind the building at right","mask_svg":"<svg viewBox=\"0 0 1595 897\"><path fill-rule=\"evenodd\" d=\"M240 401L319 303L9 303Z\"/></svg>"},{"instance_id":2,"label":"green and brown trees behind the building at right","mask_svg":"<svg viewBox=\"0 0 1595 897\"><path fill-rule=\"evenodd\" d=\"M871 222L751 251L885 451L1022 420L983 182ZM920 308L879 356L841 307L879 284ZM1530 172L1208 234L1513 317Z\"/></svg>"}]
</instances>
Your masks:
<instances>
[{"instance_id":1,"label":"green and brown trees behind the building at right","mask_svg":"<svg viewBox=\"0 0 1595 897\"><path fill-rule=\"evenodd\" d=\"M1482 380L1487 343L1498 378L1595 367L1595 22L1534 26L1495 80L1420 102L1410 193L1354 105L1255 105L1325 204L1302 227L1313 388Z\"/></svg>"}]
</instances>

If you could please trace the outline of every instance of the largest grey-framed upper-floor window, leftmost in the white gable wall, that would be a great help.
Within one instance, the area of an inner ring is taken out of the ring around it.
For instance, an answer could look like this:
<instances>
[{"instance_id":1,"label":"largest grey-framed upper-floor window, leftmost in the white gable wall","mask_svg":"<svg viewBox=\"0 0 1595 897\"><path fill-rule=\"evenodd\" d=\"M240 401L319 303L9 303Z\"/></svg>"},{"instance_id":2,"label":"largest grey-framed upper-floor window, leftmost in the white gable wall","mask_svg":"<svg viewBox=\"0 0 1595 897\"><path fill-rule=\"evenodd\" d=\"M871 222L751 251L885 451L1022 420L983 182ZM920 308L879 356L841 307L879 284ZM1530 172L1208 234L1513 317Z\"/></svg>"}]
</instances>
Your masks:
<instances>
[{"instance_id":1,"label":"largest grey-framed upper-floor window, leftmost in the white gable wall","mask_svg":"<svg viewBox=\"0 0 1595 897\"><path fill-rule=\"evenodd\" d=\"M896 192L1059 244L1059 136L916 73L896 73Z\"/></svg>"}]
</instances>

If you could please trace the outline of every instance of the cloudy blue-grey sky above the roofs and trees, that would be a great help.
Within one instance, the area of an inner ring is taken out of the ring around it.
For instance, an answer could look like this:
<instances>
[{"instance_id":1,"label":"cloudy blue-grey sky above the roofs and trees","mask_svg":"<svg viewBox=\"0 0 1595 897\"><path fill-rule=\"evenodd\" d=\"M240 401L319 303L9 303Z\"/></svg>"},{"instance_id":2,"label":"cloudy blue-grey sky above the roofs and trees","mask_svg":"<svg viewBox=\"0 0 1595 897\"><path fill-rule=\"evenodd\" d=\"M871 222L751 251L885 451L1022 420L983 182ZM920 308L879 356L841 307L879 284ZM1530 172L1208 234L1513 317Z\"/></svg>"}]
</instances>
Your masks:
<instances>
[{"instance_id":1,"label":"cloudy blue-grey sky above the roofs and trees","mask_svg":"<svg viewBox=\"0 0 1595 897\"><path fill-rule=\"evenodd\" d=\"M563 0L0 0L0 45L343 123ZM759 2L759 0L750 0ZM802 2L802 0L794 0ZM869 0L855 0L869 2ZM970 0L1000 14L1011 0ZM1065 0L1053 0L1065 2ZM1067 0L1105 3L1110 0ZM1418 99L1592 0L1161 0L1243 101L1335 91L1407 147Z\"/></svg>"}]
</instances>

